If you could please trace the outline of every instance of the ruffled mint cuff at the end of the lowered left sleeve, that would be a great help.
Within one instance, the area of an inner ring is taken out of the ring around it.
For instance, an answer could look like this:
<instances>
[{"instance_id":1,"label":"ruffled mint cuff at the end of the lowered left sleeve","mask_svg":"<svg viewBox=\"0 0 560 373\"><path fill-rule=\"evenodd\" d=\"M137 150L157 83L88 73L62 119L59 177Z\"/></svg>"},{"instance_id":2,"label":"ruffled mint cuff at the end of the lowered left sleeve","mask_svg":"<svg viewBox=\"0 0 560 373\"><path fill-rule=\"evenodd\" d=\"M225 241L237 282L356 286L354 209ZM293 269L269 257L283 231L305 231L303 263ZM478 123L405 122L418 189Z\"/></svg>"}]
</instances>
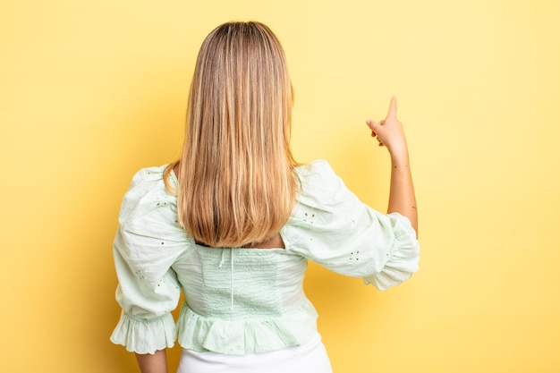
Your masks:
<instances>
[{"instance_id":1,"label":"ruffled mint cuff at the end of the lowered left sleeve","mask_svg":"<svg viewBox=\"0 0 560 373\"><path fill-rule=\"evenodd\" d=\"M122 344L129 352L145 354L173 347L176 338L171 313L145 320L123 312L111 335L111 342Z\"/></svg>"}]
</instances>

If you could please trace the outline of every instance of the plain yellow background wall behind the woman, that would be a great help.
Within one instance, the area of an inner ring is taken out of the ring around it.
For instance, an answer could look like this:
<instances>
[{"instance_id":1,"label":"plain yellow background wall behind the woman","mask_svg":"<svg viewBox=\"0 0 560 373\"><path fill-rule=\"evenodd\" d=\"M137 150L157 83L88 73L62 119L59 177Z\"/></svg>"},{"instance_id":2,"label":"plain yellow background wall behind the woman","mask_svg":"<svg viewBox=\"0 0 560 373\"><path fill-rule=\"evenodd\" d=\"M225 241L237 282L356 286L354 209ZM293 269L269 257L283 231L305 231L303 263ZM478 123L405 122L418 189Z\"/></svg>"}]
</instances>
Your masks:
<instances>
[{"instance_id":1,"label":"plain yellow background wall behind the woman","mask_svg":"<svg viewBox=\"0 0 560 373\"><path fill-rule=\"evenodd\" d=\"M421 269L377 292L310 267L335 372L560 371L560 2L537 0L4 1L0 371L135 371L108 341L120 200L178 156L199 45L230 20L284 44L295 156L380 210L365 120L398 97Z\"/></svg>"}]
</instances>

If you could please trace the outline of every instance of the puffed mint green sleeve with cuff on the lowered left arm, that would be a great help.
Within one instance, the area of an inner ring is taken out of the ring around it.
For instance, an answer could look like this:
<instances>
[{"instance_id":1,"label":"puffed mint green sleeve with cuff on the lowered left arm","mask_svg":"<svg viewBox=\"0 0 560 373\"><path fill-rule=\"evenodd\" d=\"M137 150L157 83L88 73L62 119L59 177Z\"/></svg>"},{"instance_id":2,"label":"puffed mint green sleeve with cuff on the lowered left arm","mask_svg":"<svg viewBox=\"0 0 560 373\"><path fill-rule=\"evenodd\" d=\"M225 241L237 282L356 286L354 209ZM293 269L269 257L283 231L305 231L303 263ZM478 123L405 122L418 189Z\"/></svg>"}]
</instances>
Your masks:
<instances>
[{"instance_id":1,"label":"puffed mint green sleeve with cuff on the lowered left arm","mask_svg":"<svg viewBox=\"0 0 560 373\"><path fill-rule=\"evenodd\" d=\"M176 199L165 190L163 167L141 170L123 198L113 245L121 318L111 341L130 352L154 353L176 339L171 311L181 286L172 269L188 247L176 223Z\"/></svg>"}]
</instances>

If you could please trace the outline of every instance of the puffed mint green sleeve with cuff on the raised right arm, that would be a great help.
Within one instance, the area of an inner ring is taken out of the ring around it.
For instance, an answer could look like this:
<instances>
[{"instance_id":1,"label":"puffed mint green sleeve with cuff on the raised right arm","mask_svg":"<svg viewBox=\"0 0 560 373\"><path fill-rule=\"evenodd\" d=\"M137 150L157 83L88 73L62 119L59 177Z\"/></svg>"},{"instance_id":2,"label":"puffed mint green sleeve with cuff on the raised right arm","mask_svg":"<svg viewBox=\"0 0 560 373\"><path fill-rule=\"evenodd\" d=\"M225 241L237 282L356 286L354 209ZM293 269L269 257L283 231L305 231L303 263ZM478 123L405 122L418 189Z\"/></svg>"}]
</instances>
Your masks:
<instances>
[{"instance_id":1,"label":"puffed mint green sleeve with cuff on the raised right arm","mask_svg":"<svg viewBox=\"0 0 560 373\"><path fill-rule=\"evenodd\" d=\"M369 208L326 161L298 174L301 191L282 231L286 250L382 291L418 270L420 244L408 218Z\"/></svg>"}]
</instances>

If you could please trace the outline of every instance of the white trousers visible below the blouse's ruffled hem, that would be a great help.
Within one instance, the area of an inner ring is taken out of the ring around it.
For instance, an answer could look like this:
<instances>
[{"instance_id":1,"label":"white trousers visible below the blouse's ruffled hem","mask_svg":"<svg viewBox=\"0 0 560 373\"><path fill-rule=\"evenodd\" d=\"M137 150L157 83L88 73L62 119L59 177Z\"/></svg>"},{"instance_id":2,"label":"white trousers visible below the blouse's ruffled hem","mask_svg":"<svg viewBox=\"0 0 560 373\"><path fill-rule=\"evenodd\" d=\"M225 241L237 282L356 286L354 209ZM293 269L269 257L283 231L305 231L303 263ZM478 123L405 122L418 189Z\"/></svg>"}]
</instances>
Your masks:
<instances>
[{"instance_id":1,"label":"white trousers visible below the blouse's ruffled hem","mask_svg":"<svg viewBox=\"0 0 560 373\"><path fill-rule=\"evenodd\" d=\"M225 355L182 349L177 373L332 373L327 350L316 335L310 343L282 350Z\"/></svg>"}]
</instances>

